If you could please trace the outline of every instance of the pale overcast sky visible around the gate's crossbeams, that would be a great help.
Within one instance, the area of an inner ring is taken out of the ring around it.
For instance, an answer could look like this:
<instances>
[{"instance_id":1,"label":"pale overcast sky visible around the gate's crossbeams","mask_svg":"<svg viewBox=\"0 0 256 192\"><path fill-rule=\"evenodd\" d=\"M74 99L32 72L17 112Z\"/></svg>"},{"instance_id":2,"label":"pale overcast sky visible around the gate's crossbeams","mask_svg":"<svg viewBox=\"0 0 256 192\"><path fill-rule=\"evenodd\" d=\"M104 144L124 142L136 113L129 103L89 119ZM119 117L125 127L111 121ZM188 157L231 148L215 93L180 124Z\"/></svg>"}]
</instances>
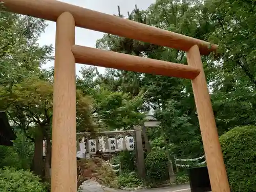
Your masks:
<instances>
[{"instance_id":1,"label":"pale overcast sky visible around the gate's crossbeams","mask_svg":"<svg viewBox=\"0 0 256 192\"><path fill-rule=\"evenodd\" d=\"M127 11L131 12L135 8L145 10L156 0L61 0L61 2L73 4L76 6L84 7L87 9L92 9L95 11L100 11L107 14L118 14L117 6L120 6L121 14L127 16ZM41 34L39 39L40 45L50 45L55 46L55 22L48 22L48 27L45 33ZM92 31L88 29L76 28L76 45L82 45L87 47L94 47L96 40L101 38L103 33ZM44 68L50 68L54 66L54 61L47 63ZM79 70L84 65L76 64L76 74L79 75ZM104 68L99 68L101 73L104 72Z\"/></svg>"}]
</instances>

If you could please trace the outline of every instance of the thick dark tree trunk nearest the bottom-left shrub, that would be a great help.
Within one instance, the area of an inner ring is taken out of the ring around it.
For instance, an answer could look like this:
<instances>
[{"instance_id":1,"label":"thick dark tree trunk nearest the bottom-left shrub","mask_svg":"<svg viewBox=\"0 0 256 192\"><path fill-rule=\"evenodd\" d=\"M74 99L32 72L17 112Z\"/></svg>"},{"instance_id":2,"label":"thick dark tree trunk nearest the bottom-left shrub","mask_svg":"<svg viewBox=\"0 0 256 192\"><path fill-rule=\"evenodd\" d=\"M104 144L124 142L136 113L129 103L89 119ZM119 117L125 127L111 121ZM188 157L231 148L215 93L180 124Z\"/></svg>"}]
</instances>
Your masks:
<instances>
[{"instance_id":1,"label":"thick dark tree trunk nearest the bottom-left shrub","mask_svg":"<svg viewBox=\"0 0 256 192\"><path fill-rule=\"evenodd\" d=\"M40 176L42 178L43 176L43 168L44 168L44 161L42 159L42 141L44 140L44 135L42 134L40 129L36 130L35 133L35 152L34 152L34 158L33 158L33 171L34 174Z\"/></svg>"}]
</instances>

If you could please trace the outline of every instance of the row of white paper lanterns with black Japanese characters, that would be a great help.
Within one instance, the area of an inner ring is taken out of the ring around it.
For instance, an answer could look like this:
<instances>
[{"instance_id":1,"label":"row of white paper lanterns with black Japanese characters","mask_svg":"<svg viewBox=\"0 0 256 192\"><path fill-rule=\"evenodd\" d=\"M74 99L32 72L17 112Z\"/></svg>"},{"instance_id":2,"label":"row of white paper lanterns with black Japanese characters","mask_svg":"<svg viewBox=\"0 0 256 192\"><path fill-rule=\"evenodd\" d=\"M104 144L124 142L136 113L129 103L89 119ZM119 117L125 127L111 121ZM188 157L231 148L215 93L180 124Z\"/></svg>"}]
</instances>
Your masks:
<instances>
[{"instance_id":1,"label":"row of white paper lanterns with black Japanese characters","mask_svg":"<svg viewBox=\"0 0 256 192\"><path fill-rule=\"evenodd\" d=\"M80 150L81 148L83 148L83 150L81 150L81 153L86 153L85 145L86 142L84 142L83 138L82 141L79 143ZM135 148L133 136L125 136L124 138L120 139L110 137L107 140L101 138L101 140L98 139L98 142L96 139L89 139L88 145L88 153L91 155L96 154L96 152L99 151L99 148L102 148L103 153L115 153L124 150L133 151ZM101 147L99 147L99 145L101 145Z\"/></svg>"}]
</instances>

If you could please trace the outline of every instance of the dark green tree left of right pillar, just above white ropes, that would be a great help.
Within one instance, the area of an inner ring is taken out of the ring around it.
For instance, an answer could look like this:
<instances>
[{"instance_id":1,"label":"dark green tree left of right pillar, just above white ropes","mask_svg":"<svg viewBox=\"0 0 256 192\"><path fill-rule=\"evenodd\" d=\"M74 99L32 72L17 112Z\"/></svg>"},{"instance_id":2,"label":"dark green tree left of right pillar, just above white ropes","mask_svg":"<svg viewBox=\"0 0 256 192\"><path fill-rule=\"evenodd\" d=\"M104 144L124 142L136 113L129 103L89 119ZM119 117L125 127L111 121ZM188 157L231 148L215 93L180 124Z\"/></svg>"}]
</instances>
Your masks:
<instances>
[{"instance_id":1,"label":"dark green tree left of right pillar, just above white ropes","mask_svg":"<svg viewBox=\"0 0 256 192\"><path fill-rule=\"evenodd\" d=\"M182 112L182 103L169 100L166 108L156 111L162 135L170 144L169 151L178 157L198 157L203 154L198 127L190 123L188 115Z\"/></svg>"}]
</instances>

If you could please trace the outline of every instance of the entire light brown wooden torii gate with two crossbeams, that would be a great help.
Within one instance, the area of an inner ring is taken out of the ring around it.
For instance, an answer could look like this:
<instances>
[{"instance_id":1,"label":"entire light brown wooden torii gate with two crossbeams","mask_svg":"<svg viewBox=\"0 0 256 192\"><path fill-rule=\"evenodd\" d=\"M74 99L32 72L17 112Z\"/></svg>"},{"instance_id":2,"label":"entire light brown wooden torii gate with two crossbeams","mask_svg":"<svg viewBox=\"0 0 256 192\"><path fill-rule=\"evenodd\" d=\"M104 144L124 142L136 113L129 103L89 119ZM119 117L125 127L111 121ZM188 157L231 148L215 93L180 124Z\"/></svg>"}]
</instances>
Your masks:
<instances>
[{"instance_id":1,"label":"entire light brown wooden torii gate with two crossbeams","mask_svg":"<svg viewBox=\"0 0 256 192\"><path fill-rule=\"evenodd\" d=\"M201 61L218 46L55 0L0 2L11 12L56 22L52 192L77 191L75 63L191 79L212 191L230 191ZM188 66L75 45L75 26L185 51Z\"/></svg>"}]
</instances>

